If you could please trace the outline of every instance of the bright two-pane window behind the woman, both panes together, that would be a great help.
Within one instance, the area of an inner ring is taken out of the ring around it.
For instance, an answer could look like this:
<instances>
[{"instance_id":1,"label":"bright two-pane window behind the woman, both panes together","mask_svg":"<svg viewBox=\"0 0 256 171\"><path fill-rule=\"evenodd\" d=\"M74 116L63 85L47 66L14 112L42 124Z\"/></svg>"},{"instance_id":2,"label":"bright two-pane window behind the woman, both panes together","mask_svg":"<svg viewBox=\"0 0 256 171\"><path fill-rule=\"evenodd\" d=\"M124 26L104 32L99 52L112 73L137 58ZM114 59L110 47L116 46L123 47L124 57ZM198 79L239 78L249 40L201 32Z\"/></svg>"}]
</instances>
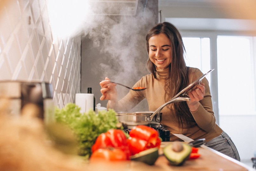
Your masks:
<instances>
[{"instance_id":1,"label":"bright two-pane window behind the woman, both panes together","mask_svg":"<svg viewBox=\"0 0 256 171\"><path fill-rule=\"evenodd\" d=\"M256 114L256 37L209 35L183 37L186 65L203 73L217 68L218 82L211 84L210 75L206 78L210 87L217 87L218 93L212 93L212 100L213 105L218 102L215 112L219 115ZM211 59L211 50L216 51L217 58Z\"/></svg>"}]
</instances>

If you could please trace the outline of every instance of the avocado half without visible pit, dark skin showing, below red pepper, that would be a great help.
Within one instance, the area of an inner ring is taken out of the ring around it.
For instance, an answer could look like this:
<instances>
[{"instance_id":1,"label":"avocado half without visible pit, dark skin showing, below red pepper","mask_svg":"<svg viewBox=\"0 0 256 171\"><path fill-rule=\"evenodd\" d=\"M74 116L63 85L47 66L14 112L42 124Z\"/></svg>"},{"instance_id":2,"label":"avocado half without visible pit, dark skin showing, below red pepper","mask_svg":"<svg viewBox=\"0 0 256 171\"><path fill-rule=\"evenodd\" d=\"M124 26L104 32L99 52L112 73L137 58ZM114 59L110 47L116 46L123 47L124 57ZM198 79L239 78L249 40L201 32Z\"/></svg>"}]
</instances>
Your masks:
<instances>
[{"instance_id":1,"label":"avocado half without visible pit, dark skin showing, below red pepper","mask_svg":"<svg viewBox=\"0 0 256 171\"><path fill-rule=\"evenodd\" d=\"M141 151L135 155L131 156L131 160L144 162L148 165L154 165L158 159L158 148L151 148Z\"/></svg>"}]
</instances>

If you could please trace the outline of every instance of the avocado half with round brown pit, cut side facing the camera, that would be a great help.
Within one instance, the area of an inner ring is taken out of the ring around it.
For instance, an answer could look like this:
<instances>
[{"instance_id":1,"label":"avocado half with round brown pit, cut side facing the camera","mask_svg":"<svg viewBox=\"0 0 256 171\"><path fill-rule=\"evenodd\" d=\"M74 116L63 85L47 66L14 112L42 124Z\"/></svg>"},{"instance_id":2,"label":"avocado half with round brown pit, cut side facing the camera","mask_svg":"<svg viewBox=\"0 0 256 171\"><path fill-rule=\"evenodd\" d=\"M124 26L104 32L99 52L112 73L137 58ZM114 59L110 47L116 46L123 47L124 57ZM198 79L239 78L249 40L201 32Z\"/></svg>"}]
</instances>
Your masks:
<instances>
[{"instance_id":1,"label":"avocado half with round brown pit, cut side facing the camera","mask_svg":"<svg viewBox=\"0 0 256 171\"><path fill-rule=\"evenodd\" d=\"M173 145L175 145L174 143L177 142L172 142L165 146L163 152L171 165L181 166L187 159L189 159L192 147L188 144L179 142L183 148L180 151L176 151L173 149Z\"/></svg>"}]
</instances>

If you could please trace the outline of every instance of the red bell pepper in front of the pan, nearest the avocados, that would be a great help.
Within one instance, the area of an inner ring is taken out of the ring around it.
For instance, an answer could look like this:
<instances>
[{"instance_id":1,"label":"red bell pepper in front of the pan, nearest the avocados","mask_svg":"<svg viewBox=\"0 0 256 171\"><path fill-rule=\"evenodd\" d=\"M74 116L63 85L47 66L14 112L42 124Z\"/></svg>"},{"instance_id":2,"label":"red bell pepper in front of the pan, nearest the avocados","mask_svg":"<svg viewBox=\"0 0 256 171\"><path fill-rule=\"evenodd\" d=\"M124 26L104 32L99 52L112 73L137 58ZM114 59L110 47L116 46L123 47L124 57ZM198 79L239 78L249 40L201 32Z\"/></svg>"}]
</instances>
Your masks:
<instances>
[{"instance_id":1,"label":"red bell pepper in front of the pan, nearest the avocados","mask_svg":"<svg viewBox=\"0 0 256 171\"><path fill-rule=\"evenodd\" d=\"M160 147L161 140L158 132L151 127L139 125L130 131L130 138L127 139L131 154L137 154L145 149Z\"/></svg>"}]
</instances>

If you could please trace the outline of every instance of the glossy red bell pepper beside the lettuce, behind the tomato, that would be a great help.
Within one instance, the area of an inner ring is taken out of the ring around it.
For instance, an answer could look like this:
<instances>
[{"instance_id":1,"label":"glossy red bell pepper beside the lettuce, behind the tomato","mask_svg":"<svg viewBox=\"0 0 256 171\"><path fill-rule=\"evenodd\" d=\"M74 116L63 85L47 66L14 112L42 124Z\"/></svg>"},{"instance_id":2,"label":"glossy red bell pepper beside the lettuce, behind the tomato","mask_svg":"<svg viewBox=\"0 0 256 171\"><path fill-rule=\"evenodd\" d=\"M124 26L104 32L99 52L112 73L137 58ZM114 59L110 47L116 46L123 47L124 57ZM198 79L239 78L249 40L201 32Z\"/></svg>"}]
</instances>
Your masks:
<instances>
[{"instance_id":1,"label":"glossy red bell pepper beside the lettuce, behind the tomato","mask_svg":"<svg viewBox=\"0 0 256 171\"><path fill-rule=\"evenodd\" d=\"M114 147L125 152L127 160L130 158L131 152L126 142L126 136L122 130L111 129L106 133L100 134L96 142L91 147L92 153L97 149Z\"/></svg>"}]
</instances>

